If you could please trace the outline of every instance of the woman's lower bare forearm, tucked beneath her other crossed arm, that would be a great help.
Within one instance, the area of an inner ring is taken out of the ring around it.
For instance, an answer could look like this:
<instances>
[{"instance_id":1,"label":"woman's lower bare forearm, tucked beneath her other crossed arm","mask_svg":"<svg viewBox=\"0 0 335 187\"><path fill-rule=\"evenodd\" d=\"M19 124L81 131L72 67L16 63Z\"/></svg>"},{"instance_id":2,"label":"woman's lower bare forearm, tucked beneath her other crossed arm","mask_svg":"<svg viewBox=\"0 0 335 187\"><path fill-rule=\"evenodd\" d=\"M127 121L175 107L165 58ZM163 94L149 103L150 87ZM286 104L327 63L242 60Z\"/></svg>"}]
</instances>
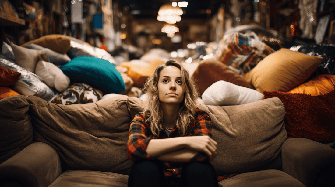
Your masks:
<instances>
[{"instance_id":1,"label":"woman's lower bare forearm, tucked beneath her other crossed arm","mask_svg":"<svg viewBox=\"0 0 335 187\"><path fill-rule=\"evenodd\" d=\"M183 148L177 151L160 155L159 157L157 157L157 159L162 161L188 162L196 154L198 154L197 151Z\"/></svg>"}]
</instances>

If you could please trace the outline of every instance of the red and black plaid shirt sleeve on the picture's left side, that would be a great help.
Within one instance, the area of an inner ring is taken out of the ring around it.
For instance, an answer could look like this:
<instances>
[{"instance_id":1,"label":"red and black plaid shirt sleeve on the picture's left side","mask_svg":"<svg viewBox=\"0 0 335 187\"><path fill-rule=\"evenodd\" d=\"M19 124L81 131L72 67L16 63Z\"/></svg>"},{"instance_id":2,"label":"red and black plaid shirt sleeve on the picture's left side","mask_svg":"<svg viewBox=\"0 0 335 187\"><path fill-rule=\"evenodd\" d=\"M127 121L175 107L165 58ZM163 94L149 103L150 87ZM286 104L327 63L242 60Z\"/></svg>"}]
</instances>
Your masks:
<instances>
[{"instance_id":1,"label":"red and black plaid shirt sleeve on the picture's left side","mask_svg":"<svg viewBox=\"0 0 335 187\"><path fill-rule=\"evenodd\" d=\"M145 150L151 137L147 135L148 124L144 123L144 119L145 115L141 112L130 123L127 154L133 160L150 159Z\"/></svg>"}]
</instances>

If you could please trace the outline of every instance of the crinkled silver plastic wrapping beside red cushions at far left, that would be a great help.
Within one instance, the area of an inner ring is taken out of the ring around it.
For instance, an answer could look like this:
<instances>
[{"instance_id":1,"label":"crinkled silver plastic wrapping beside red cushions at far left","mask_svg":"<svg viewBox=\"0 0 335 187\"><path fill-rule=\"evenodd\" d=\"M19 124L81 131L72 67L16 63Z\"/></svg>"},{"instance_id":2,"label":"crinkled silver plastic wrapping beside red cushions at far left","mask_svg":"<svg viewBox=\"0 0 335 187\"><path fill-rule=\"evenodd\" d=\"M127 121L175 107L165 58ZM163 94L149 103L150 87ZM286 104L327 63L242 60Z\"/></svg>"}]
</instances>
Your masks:
<instances>
[{"instance_id":1,"label":"crinkled silver plastic wrapping beside red cushions at far left","mask_svg":"<svg viewBox=\"0 0 335 187\"><path fill-rule=\"evenodd\" d=\"M13 85L11 85L11 88L19 92L21 95L37 96L49 102L58 95L55 90L40 80L42 78L24 69L23 67L20 67L15 62L9 60L3 55L0 55L0 64L21 73L19 79Z\"/></svg>"}]
</instances>

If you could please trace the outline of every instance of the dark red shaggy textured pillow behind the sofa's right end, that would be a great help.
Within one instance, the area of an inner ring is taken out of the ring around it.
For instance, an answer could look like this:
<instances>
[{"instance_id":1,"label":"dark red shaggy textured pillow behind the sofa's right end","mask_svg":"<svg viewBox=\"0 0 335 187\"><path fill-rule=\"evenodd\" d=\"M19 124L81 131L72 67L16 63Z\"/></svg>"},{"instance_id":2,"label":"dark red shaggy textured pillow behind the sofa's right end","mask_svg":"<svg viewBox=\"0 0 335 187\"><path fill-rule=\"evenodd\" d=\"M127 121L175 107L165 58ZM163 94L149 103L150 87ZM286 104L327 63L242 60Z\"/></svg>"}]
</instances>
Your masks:
<instances>
[{"instance_id":1,"label":"dark red shaggy textured pillow behind the sofa's right end","mask_svg":"<svg viewBox=\"0 0 335 187\"><path fill-rule=\"evenodd\" d=\"M335 90L325 95L263 91L264 98L278 97L285 107L287 138L335 140Z\"/></svg>"}]
</instances>

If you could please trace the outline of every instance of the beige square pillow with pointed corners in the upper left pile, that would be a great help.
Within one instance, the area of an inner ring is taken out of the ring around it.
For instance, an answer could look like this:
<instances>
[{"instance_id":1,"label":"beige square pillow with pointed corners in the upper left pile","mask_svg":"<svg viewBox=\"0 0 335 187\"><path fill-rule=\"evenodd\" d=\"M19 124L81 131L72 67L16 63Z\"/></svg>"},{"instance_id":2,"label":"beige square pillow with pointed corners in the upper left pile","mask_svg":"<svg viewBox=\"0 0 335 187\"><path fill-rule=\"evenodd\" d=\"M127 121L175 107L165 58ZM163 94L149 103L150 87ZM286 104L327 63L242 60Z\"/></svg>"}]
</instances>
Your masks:
<instances>
[{"instance_id":1,"label":"beige square pillow with pointed corners in the upper left pile","mask_svg":"<svg viewBox=\"0 0 335 187\"><path fill-rule=\"evenodd\" d=\"M41 52L35 49L27 49L15 44L10 44L10 46L13 49L17 65L35 73L36 63Z\"/></svg>"}]
</instances>

